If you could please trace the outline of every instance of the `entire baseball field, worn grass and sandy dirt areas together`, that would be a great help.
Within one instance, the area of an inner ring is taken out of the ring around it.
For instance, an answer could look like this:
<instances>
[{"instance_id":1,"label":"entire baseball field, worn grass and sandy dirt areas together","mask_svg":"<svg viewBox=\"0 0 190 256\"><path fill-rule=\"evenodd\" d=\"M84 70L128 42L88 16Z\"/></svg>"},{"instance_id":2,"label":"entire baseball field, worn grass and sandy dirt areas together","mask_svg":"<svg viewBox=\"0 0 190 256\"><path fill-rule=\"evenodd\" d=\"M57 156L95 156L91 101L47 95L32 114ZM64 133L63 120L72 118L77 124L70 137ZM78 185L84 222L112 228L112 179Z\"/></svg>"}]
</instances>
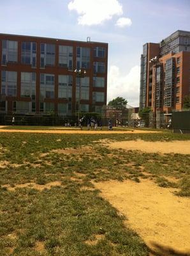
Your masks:
<instances>
[{"instance_id":1,"label":"entire baseball field, worn grass and sandy dirt areas together","mask_svg":"<svg viewBox=\"0 0 190 256\"><path fill-rule=\"evenodd\" d=\"M190 255L190 135L0 127L0 255Z\"/></svg>"}]
</instances>

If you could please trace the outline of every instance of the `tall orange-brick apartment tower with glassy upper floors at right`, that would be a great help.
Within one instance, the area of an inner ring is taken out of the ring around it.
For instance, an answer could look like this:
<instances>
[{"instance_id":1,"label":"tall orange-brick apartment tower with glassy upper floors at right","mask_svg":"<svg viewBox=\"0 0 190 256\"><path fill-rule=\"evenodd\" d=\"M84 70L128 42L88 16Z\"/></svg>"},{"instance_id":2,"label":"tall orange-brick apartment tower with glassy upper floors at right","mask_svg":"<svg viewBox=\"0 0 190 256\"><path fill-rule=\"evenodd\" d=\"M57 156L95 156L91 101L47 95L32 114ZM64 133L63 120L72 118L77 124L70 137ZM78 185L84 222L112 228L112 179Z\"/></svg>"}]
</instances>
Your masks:
<instances>
[{"instance_id":1,"label":"tall orange-brick apartment tower with glassy upper floors at right","mask_svg":"<svg viewBox=\"0 0 190 256\"><path fill-rule=\"evenodd\" d=\"M143 45L140 109L181 110L190 93L190 32L176 31L160 44Z\"/></svg>"}]
</instances>

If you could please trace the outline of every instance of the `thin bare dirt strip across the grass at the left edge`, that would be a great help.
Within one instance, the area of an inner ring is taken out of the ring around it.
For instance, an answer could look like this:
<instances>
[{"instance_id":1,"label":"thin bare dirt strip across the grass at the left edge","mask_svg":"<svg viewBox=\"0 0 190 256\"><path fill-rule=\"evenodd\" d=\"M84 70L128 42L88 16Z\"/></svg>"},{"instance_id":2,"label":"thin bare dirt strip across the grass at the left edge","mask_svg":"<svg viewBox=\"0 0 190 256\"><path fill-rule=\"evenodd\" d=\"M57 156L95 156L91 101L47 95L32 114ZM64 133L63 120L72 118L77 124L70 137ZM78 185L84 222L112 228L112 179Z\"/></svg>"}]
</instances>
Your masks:
<instances>
[{"instance_id":1,"label":"thin bare dirt strip across the grass at the left edge","mask_svg":"<svg viewBox=\"0 0 190 256\"><path fill-rule=\"evenodd\" d=\"M36 184L34 182L26 182L24 184L17 184L14 187L11 187L10 185L3 185L2 187L6 188L8 191L15 191L16 188L34 188L42 191L45 188L50 189L55 186L61 186L61 181L48 182L45 185Z\"/></svg>"}]
</instances>

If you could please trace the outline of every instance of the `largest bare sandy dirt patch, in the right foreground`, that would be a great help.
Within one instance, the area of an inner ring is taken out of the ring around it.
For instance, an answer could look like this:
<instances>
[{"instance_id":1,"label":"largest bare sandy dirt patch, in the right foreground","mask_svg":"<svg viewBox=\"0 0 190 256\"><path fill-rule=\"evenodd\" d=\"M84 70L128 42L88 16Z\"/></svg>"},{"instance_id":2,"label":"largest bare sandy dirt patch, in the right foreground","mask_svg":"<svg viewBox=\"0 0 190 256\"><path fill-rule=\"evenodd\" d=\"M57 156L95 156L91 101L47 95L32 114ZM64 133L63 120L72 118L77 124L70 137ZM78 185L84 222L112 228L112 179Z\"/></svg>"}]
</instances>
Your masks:
<instances>
[{"instance_id":1,"label":"largest bare sandy dirt patch, in the right foreground","mask_svg":"<svg viewBox=\"0 0 190 256\"><path fill-rule=\"evenodd\" d=\"M156 243L190 255L190 198L175 196L172 188L160 188L151 180L114 180L94 186L126 216L125 224L136 230L154 252L161 252ZM161 253L151 255L170 255Z\"/></svg>"}]
</instances>

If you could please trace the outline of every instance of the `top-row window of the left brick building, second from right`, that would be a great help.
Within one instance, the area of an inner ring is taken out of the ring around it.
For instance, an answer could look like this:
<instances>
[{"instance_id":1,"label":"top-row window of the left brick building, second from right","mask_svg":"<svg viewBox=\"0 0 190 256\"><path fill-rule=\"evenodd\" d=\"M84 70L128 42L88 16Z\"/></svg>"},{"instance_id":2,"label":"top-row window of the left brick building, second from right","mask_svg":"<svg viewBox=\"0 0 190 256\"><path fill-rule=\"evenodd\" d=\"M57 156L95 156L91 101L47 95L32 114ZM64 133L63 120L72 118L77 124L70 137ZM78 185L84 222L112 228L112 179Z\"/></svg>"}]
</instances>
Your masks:
<instances>
[{"instance_id":1,"label":"top-row window of the left brick building, second from right","mask_svg":"<svg viewBox=\"0 0 190 256\"><path fill-rule=\"evenodd\" d=\"M77 47L77 68L90 68L91 49Z\"/></svg>"}]
</instances>

